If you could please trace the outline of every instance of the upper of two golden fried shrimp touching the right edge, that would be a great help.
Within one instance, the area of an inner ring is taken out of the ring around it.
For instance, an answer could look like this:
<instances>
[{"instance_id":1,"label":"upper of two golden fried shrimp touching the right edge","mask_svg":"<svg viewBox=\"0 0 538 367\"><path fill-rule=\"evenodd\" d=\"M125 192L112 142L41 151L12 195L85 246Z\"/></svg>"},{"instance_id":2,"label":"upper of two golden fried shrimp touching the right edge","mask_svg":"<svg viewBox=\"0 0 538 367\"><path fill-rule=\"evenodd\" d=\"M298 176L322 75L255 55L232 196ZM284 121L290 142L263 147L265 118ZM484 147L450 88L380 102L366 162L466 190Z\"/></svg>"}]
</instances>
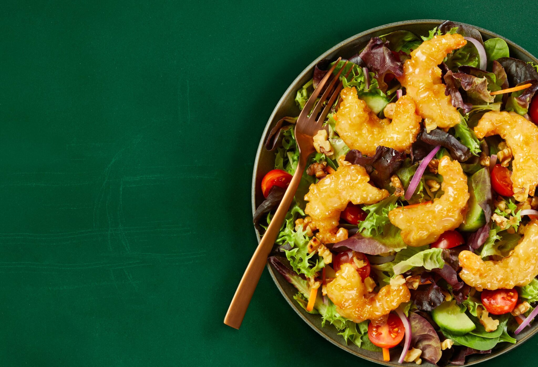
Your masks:
<instances>
[{"instance_id":1,"label":"upper of two golden fried shrimp touching the right edge","mask_svg":"<svg viewBox=\"0 0 538 367\"><path fill-rule=\"evenodd\" d=\"M538 185L538 127L515 112L484 113L475 127L478 138L500 135L512 149L514 197L523 202ZM518 195L519 194L519 195Z\"/></svg>"}]
</instances>

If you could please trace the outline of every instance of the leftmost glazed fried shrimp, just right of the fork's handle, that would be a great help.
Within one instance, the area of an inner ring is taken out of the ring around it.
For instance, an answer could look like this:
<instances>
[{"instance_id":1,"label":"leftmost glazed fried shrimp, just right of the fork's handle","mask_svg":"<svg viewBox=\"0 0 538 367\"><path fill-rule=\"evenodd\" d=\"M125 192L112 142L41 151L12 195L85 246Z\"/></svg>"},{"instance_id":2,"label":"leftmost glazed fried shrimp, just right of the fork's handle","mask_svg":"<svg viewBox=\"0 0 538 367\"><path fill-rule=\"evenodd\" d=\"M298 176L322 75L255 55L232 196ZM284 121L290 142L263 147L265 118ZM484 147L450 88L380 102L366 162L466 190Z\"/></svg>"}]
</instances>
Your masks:
<instances>
[{"instance_id":1,"label":"leftmost glazed fried shrimp, just right of the fork's handle","mask_svg":"<svg viewBox=\"0 0 538 367\"><path fill-rule=\"evenodd\" d=\"M345 238L336 236L340 213L349 202L374 204L388 197L387 190L380 190L370 183L366 169L358 164L343 165L316 184L310 185L305 195L308 201L305 213L320 232L316 237L323 243L335 243ZM347 238L347 236L345 236Z\"/></svg>"}]
</instances>

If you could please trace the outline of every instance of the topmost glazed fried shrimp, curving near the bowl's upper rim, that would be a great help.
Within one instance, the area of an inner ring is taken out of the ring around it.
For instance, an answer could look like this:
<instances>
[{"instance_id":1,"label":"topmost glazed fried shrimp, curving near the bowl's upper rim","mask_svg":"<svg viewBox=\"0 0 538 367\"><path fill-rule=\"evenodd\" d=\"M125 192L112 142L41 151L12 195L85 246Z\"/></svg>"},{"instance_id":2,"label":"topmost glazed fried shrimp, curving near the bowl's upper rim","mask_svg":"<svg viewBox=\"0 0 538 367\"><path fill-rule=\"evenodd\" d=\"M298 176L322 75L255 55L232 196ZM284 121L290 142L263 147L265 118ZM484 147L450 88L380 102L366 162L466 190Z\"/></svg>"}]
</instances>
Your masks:
<instances>
[{"instance_id":1,"label":"topmost glazed fried shrimp, curving near the bowl's upper rim","mask_svg":"<svg viewBox=\"0 0 538 367\"><path fill-rule=\"evenodd\" d=\"M436 35L422 42L404 63L404 75L398 80L413 97L417 112L424 119L427 131L436 127L452 127L459 124L461 115L452 106L450 96L445 96L441 82L441 69L437 67L454 49L465 46L461 34Z\"/></svg>"}]
</instances>

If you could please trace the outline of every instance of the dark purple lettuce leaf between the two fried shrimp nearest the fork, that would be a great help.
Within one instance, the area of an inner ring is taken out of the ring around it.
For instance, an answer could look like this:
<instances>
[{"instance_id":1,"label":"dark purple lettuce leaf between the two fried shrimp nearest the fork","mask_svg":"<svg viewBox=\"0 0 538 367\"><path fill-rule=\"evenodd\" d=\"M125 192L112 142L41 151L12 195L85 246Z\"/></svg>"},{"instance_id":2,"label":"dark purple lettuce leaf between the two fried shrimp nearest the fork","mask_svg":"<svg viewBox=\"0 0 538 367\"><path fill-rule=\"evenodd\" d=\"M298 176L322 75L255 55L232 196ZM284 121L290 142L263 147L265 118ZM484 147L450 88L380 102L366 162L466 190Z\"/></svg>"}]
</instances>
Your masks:
<instances>
[{"instance_id":1,"label":"dark purple lettuce leaf between the two fried shrimp nearest the fork","mask_svg":"<svg viewBox=\"0 0 538 367\"><path fill-rule=\"evenodd\" d=\"M400 169L405 158L405 153L383 146L377 147L376 154L370 157L363 156L357 149L352 149L345 155L346 161L366 168L373 183L380 188L390 181L392 174Z\"/></svg>"}]
</instances>

